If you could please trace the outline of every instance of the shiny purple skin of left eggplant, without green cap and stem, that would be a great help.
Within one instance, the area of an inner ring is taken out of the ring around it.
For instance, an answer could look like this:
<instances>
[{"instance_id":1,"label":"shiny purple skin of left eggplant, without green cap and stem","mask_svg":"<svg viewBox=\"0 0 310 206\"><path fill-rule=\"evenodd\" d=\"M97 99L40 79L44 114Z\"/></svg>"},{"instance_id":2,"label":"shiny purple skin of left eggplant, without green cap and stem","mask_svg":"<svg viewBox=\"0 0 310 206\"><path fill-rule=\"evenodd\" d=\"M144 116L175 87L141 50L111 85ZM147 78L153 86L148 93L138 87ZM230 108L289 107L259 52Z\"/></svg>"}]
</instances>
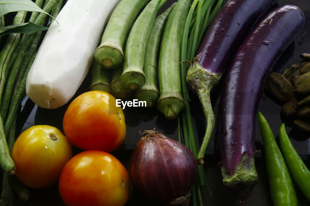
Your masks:
<instances>
[{"instance_id":1,"label":"shiny purple skin of left eggplant, without green cap and stem","mask_svg":"<svg viewBox=\"0 0 310 206\"><path fill-rule=\"evenodd\" d=\"M224 72L247 32L275 0L230 0L211 22L197 52L200 65Z\"/></svg>"}]
</instances>

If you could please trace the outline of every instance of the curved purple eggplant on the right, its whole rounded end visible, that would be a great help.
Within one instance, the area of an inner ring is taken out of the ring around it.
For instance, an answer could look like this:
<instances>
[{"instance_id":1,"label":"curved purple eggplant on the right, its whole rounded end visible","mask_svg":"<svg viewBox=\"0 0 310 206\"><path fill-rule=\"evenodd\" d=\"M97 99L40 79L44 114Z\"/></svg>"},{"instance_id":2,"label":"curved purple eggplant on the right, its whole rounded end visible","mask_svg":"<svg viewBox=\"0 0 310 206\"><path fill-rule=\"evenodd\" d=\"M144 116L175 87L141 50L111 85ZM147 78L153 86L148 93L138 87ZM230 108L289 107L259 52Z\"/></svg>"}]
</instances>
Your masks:
<instances>
[{"instance_id":1,"label":"curved purple eggplant on the right, its whole rounded end visible","mask_svg":"<svg viewBox=\"0 0 310 206\"><path fill-rule=\"evenodd\" d=\"M255 122L263 86L284 49L305 23L303 11L285 5L266 14L234 54L220 100L220 158L223 183L245 203L258 180Z\"/></svg>"}]
</instances>

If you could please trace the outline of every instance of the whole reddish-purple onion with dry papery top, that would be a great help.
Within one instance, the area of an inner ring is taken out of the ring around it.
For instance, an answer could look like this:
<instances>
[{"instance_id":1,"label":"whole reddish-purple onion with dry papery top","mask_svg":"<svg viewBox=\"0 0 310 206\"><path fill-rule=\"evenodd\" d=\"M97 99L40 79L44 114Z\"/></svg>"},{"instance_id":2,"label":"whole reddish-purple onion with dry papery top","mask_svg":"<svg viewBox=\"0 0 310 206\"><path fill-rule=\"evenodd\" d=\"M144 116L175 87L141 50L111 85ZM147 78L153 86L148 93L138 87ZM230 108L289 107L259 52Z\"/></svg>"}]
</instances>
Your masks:
<instances>
[{"instance_id":1,"label":"whole reddish-purple onion with dry papery top","mask_svg":"<svg viewBox=\"0 0 310 206\"><path fill-rule=\"evenodd\" d=\"M193 187L198 165L184 144L159 132L144 132L129 164L133 186L149 199L167 203Z\"/></svg>"}]
</instances>

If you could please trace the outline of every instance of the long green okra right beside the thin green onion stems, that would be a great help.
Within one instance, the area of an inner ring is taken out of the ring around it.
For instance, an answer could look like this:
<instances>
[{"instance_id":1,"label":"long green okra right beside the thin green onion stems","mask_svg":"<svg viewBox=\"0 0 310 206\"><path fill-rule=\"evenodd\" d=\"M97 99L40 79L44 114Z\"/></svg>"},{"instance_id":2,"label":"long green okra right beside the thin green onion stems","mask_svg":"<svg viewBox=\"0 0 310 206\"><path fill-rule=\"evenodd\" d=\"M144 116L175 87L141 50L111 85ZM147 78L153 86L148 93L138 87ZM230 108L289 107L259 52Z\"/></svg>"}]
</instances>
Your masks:
<instances>
[{"instance_id":1,"label":"long green okra right beside the thin green onion stems","mask_svg":"<svg viewBox=\"0 0 310 206\"><path fill-rule=\"evenodd\" d=\"M181 94L180 59L184 26L191 1L179 0L173 7L165 25L158 60L160 97L157 109L166 118L174 119L184 110Z\"/></svg>"}]
</instances>

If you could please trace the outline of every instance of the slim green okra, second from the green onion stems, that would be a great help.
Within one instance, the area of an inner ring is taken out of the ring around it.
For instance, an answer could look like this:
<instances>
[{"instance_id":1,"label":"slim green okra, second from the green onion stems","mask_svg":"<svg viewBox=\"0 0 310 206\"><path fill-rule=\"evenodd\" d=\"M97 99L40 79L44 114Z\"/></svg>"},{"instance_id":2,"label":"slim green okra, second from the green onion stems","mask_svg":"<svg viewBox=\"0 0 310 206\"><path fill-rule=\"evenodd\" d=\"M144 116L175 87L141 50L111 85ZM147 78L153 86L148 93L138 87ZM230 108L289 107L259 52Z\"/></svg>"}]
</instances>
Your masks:
<instances>
[{"instance_id":1,"label":"slim green okra, second from the green onion stems","mask_svg":"<svg viewBox=\"0 0 310 206\"><path fill-rule=\"evenodd\" d=\"M156 104L159 98L157 89L157 62L160 50L160 43L168 15L172 10L171 5L166 11L159 15L153 24L152 31L146 44L143 72L145 75L145 84L137 90L135 98L139 101L146 101L146 107L149 108Z\"/></svg>"}]
</instances>

